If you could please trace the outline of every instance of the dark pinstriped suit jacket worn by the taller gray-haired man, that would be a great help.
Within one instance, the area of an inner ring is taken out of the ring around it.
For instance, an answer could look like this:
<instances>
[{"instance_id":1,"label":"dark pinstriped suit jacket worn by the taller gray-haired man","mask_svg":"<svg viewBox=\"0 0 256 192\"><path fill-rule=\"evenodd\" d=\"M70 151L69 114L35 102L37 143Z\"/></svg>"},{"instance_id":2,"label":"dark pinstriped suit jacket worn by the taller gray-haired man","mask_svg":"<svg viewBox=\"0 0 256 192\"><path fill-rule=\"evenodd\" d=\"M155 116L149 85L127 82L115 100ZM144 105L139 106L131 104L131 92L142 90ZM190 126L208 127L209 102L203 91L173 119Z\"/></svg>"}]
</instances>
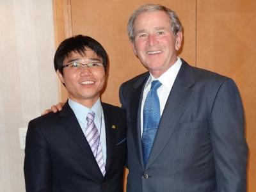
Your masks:
<instances>
[{"instance_id":1,"label":"dark pinstriped suit jacket worn by the taller gray-haired man","mask_svg":"<svg viewBox=\"0 0 256 192\"><path fill-rule=\"evenodd\" d=\"M128 124L127 191L246 191L248 148L234 81L182 60L144 165L140 110L148 76L120 87Z\"/></svg>"}]
</instances>

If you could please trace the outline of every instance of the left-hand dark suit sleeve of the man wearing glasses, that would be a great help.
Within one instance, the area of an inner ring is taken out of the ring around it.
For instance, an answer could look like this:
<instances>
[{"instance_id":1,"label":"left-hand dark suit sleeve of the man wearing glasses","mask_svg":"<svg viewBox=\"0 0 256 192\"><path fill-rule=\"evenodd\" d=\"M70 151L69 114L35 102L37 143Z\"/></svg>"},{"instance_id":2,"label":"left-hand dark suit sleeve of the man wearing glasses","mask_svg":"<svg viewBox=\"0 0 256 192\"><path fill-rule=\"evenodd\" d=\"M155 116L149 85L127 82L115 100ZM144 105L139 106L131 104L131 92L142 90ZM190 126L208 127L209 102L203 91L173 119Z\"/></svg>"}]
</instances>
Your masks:
<instances>
[{"instance_id":1,"label":"left-hand dark suit sleeve of the man wearing glasses","mask_svg":"<svg viewBox=\"0 0 256 192\"><path fill-rule=\"evenodd\" d=\"M27 192L51 192L51 160L42 130L29 122L26 135L24 176Z\"/></svg>"}]
</instances>

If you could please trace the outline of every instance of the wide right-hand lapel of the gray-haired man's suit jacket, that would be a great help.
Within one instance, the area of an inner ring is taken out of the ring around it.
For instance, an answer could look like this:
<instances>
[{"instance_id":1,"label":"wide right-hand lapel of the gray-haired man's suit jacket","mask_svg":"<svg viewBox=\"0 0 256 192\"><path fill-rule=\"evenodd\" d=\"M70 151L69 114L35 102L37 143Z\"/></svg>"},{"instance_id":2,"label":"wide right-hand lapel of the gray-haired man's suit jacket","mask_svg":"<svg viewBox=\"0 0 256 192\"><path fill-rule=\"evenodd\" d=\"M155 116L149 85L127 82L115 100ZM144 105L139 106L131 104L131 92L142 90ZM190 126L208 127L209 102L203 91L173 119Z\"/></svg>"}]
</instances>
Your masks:
<instances>
[{"instance_id":1,"label":"wide right-hand lapel of the gray-haired man's suit jacket","mask_svg":"<svg viewBox=\"0 0 256 192\"><path fill-rule=\"evenodd\" d=\"M190 88L195 83L191 67L182 60L182 66L175 79L172 90L166 101L163 115L159 122L156 138L148 159L147 167L161 154L165 145L172 138L175 126L179 122L193 90Z\"/></svg>"}]
</instances>

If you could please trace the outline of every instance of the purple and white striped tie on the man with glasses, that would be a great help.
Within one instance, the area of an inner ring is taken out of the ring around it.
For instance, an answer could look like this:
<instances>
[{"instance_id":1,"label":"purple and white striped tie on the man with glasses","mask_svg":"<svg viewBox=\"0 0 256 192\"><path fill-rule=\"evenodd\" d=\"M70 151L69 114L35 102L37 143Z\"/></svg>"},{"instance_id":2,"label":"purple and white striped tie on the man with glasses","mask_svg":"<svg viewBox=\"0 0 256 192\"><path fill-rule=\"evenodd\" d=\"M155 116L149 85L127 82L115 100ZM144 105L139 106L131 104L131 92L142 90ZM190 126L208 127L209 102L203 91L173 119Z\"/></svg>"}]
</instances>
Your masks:
<instances>
[{"instance_id":1,"label":"purple and white striped tie on the man with glasses","mask_svg":"<svg viewBox=\"0 0 256 192\"><path fill-rule=\"evenodd\" d=\"M94 124L94 116L95 116L95 113L93 111L89 111L88 115L86 116L87 127L85 131L85 137L92 149L93 156L95 157L99 165L100 171L104 176L106 173L105 162L103 159L103 152L102 152L101 143L100 143L99 131L96 125Z\"/></svg>"}]
</instances>

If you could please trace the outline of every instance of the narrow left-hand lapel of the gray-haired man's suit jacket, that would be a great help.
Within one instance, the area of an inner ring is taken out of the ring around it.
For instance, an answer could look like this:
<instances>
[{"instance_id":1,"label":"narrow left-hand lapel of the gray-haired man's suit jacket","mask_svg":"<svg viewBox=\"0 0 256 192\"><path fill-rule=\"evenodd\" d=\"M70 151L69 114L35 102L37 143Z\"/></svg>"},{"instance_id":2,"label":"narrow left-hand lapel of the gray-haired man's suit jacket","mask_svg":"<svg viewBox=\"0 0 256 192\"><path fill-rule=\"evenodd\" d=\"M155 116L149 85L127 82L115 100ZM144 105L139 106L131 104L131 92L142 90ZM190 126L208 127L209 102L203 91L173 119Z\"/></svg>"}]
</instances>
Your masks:
<instances>
[{"instance_id":1,"label":"narrow left-hand lapel of the gray-haired man's suit jacket","mask_svg":"<svg viewBox=\"0 0 256 192\"><path fill-rule=\"evenodd\" d=\"M140 158L141 166L144 166L143 163L143 150L141 145L141 100L143 97L143 90L145 83L147 82L149 73L147 72L142 76L135 84L134 90L131 94L131 120L132 120L132 136L134 138L135 146L138 157Z\"/></svg>"}]
</instances>

